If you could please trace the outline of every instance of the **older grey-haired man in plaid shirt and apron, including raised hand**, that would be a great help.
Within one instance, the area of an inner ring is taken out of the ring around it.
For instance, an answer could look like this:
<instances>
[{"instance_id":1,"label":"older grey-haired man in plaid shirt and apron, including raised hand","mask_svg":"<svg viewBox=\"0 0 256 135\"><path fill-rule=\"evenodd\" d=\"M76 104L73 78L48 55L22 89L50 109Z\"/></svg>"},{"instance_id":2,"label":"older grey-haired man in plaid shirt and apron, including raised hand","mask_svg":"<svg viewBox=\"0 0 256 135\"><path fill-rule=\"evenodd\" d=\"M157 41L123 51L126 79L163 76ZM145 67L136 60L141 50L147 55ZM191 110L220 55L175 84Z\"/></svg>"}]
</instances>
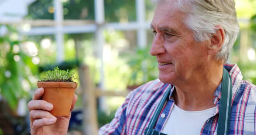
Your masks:
<instances>
[{"instance_id":1,"label":"older grey-haired man in plaid shirt and apron, including raised hand","mask_svg":"<svg viewBox=\"0 0 256 135\"><path fill-rule=\"evenodd\" d=\"M234 1L155 2L150 53L159 79L133 90L99 134L256 135L256 86L224 64L239 32ZM69 118L56 121L42 94L28 104L31 133L64 134Z\"/></svg>"}]
</instances>

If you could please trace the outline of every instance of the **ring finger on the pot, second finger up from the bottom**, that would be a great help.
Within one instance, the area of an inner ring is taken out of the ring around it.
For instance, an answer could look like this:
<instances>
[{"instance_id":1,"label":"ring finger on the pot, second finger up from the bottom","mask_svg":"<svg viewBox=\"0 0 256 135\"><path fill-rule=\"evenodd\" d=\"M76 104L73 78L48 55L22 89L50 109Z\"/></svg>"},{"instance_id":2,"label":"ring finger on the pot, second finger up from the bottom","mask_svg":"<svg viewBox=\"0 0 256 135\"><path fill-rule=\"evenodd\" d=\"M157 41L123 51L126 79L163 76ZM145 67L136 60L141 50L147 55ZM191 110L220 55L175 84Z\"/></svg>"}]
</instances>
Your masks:
<instances>
[{"instance_id":1,"label":"ring finger on the pot, second finger up from the bottom","mask_svg":"<svg viewBox=\"0 0 256 135\"><path fill-rule=\"evenodd\" d=\"M34 119L42 119L42 118L56 119L56 117L53 116L48 111L44 111L44 110L31 110L30 111L30 120L33 121Z\"/></svg>"}]
</instances>

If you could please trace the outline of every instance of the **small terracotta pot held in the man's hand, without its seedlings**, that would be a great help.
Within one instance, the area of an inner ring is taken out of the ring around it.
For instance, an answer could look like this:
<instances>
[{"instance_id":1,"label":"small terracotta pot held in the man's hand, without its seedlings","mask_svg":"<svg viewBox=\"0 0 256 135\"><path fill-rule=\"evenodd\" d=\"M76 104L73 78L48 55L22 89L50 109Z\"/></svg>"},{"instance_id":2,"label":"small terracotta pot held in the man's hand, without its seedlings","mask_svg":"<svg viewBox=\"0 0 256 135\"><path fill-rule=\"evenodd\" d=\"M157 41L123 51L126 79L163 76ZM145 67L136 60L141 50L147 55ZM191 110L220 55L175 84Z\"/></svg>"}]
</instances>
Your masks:
<instances>
[{"instance_id":1,"label":"small terracotta pot held in the man's hand, without its seedlings","mask_svg":"<svg viewBox=\"0 0 256 135\"><path fill-rule=\"evenodd\" d=\"M69 116L77 83L38 82L37 87L44 88L42 100L53 104L53 110L50 111L53 116Z\"/></svg>"}]
</instances>

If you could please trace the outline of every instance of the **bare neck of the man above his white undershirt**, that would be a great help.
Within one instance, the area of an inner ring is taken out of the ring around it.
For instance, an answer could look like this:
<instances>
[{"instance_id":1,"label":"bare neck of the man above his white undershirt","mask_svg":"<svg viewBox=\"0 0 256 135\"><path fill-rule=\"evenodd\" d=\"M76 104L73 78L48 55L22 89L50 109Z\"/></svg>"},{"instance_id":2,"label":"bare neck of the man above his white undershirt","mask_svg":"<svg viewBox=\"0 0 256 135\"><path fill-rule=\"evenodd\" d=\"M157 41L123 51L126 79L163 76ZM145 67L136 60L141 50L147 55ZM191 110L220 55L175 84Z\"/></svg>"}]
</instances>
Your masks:
<instances>
[{"instance_id":1,"label":"bare neck of the man above his white undershirt","mask_svg":"<svg viewBox=\"0 0 256 135\"><path fill-rule=\"evenodd\" d=\"M175 85L175 104L187 111L200 111L216 106L214 93L222 81L223 66L209 66L184 84Z\"/></svg>"}]
</instances>

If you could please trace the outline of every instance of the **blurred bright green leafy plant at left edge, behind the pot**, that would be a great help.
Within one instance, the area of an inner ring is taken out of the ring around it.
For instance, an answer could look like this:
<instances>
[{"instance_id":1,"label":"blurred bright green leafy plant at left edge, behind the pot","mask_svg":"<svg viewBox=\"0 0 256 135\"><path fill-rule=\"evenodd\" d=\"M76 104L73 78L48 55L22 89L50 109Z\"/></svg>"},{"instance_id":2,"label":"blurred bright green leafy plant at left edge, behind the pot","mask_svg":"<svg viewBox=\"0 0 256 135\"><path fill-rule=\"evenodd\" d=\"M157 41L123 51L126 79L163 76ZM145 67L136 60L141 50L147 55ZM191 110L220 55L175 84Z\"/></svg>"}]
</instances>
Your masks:
<instances>
[{"instance_id":1,"label":"blurred bright green leafy plant at left edge, behind the pot","mask_svg":"<svg viewBox=\"0 0 256 135\"><path fill-rule=\"evenodd\" d=\"M15 111L19 99L27 97L33 87L33 75L38 68L28 54L25 41L18 40L16 29L8 25L0 27L7 28L7 33L0 36L0 93Z\"/></svg>"}]
</instances>

